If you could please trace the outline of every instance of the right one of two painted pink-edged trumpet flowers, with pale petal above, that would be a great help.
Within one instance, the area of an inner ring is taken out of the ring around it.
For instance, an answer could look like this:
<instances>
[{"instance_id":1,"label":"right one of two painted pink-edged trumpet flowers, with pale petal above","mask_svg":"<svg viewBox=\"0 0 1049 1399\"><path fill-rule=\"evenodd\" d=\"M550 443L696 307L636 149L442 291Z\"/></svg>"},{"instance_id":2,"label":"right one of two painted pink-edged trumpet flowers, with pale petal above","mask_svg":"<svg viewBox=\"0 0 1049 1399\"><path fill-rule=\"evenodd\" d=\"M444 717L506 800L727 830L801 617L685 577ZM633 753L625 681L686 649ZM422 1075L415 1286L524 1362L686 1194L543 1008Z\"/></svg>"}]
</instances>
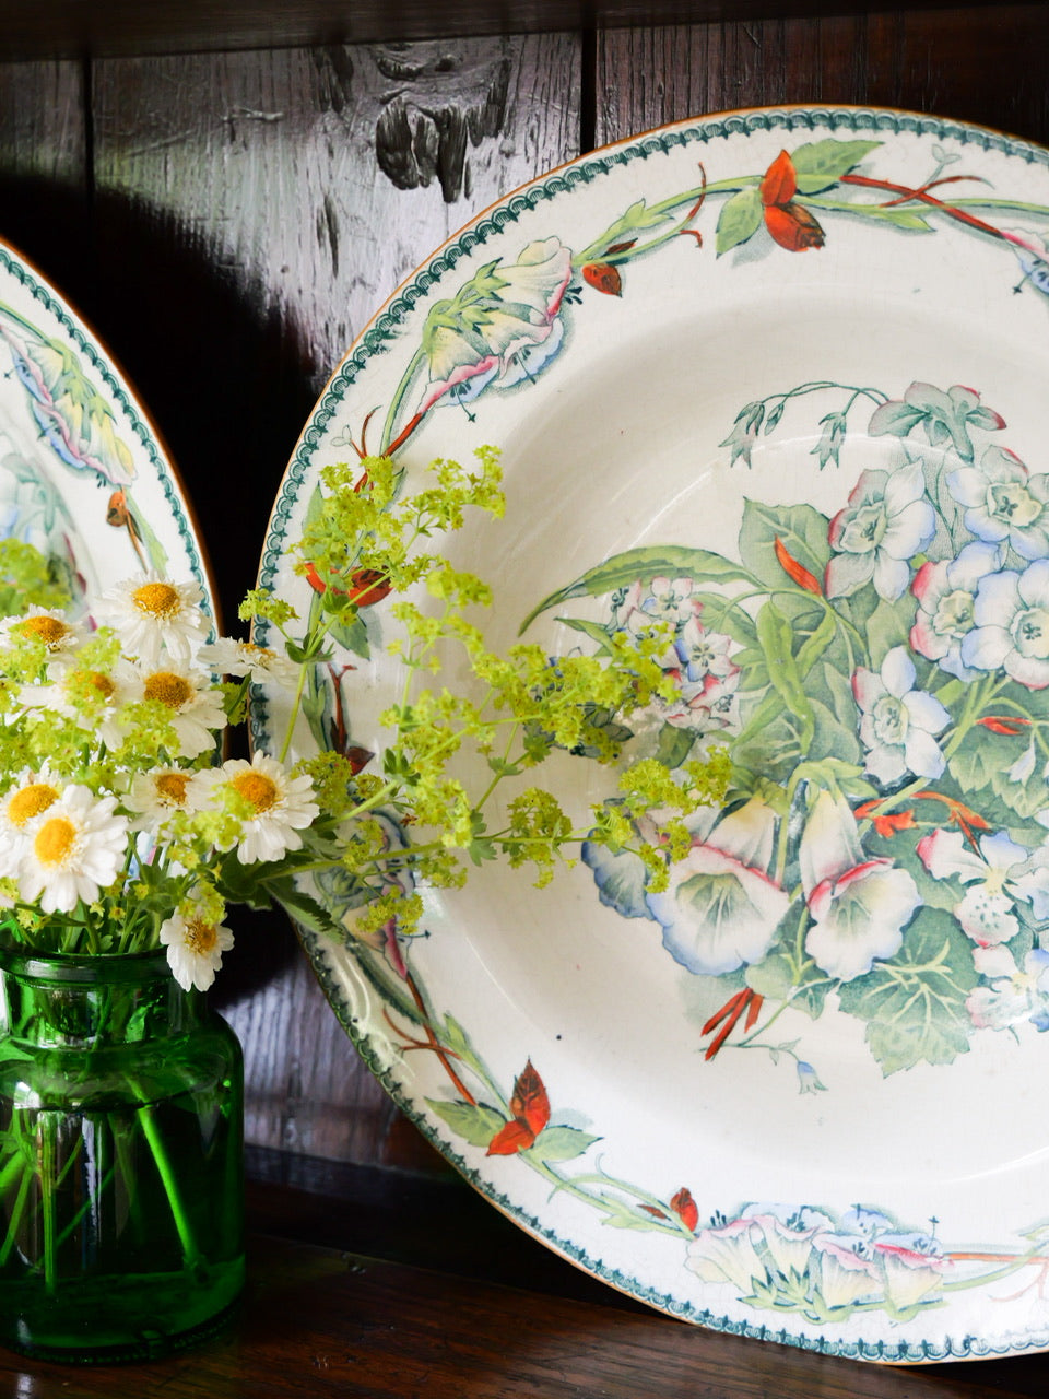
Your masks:
<instances>
[{"instance_id":1,"label":"right one of two painted pink-edged trumpet flowers, with pale petal above","mask_svg":"<svg viewBox=\"0 0 1049 1399\"><path fill-rule=\"evenodd\" d=\"M821 792L815 799L799 858L813 916L806 951L820 971L853 981L899 951L922 897L906 870L866 858L843 797Z\"/></svg>"}]
</instances>

